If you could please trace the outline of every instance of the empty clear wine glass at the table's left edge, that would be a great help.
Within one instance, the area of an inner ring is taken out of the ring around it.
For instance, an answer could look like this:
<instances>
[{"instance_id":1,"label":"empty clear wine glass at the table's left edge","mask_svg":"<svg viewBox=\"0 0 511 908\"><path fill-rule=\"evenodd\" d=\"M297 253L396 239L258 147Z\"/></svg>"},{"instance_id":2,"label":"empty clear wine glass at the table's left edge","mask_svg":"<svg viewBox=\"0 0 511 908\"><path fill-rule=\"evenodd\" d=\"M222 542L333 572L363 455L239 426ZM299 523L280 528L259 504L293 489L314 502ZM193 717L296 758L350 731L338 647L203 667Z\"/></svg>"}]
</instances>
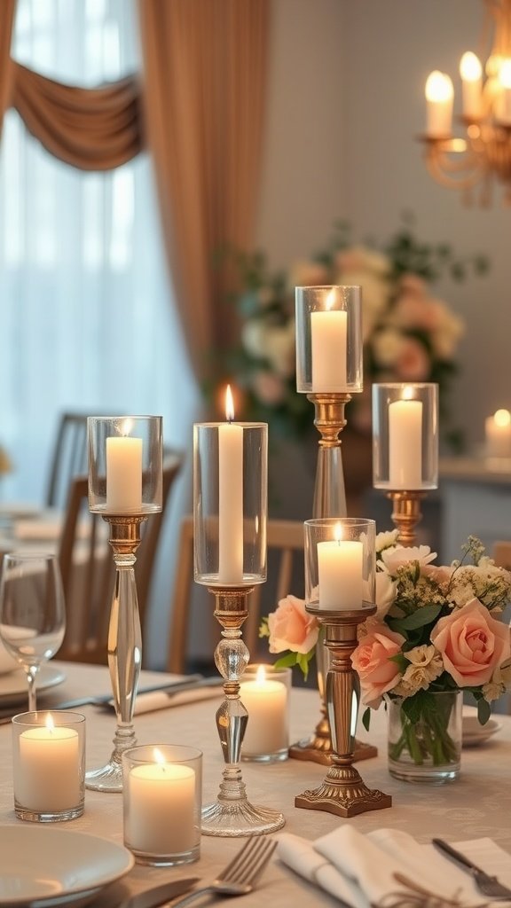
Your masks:
<instances>
[{"instance_id":1,"label":"empty clear wine glass at the table's left edge","mask_svg":"<svg viewBox=\"0 0 511 908\"><path fill-rule=\"evenodd\" d=\"M0 637L25 669L28 709L35 712L35 678L62 644L64 587L56 555L10 552L0 574Z\"/></svg>"}]
</instances>

